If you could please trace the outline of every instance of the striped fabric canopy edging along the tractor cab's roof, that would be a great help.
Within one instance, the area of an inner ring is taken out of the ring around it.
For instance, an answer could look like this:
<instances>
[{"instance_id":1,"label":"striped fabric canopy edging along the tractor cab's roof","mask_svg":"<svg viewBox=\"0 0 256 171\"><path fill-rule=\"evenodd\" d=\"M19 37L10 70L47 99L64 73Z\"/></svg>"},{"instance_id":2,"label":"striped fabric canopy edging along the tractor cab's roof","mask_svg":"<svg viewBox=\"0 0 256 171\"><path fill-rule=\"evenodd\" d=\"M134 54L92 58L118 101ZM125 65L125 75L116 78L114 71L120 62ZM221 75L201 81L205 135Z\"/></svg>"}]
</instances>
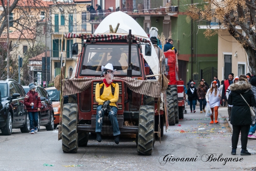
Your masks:
<instances>
[{"instance_id":1,"label":"striped fabric canopy edging along the tractor cab's roof","mask_svg":"<svg viewBox=\"0 0 256 171\"><path fill-rule=\"evenodd\" d=\"M70 38L80 38L80 39L86 39L86 40L93 40L93 41L109 41L114 39L128 39L128 34L73 34L68 33L65 34L64 37L70 39ZM135 41L143 42L143 43L149 43L150 41L137 37L132 34L132 39Z\"/></svg>"}]
</instances>

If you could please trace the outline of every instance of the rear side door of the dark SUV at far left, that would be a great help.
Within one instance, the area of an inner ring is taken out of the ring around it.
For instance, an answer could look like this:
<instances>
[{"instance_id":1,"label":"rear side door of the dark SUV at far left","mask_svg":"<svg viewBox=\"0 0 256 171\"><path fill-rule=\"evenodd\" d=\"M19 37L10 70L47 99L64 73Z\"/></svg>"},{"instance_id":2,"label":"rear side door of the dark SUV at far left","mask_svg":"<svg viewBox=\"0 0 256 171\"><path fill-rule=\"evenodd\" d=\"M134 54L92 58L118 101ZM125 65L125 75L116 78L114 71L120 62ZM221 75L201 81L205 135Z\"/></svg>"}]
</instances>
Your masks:
<instances>
[{"instance_id":1,"label":"rear side door of the dark SUV at far left","mask_svg":"<svg viewBox=\"0 0 256 171\"><path fill-rule=\"evenodd\" d=\"M15 99L18 101L18 109L17 109L17 113L18 113L18 117L19 117L19 123L24 124L26 122L26 114L24 113L24 98L25 96L23 95L22 91L20 90L18 84L13 83L15 90L17 93L20 94L20 98Z\"/></svg>"}]
</instances>

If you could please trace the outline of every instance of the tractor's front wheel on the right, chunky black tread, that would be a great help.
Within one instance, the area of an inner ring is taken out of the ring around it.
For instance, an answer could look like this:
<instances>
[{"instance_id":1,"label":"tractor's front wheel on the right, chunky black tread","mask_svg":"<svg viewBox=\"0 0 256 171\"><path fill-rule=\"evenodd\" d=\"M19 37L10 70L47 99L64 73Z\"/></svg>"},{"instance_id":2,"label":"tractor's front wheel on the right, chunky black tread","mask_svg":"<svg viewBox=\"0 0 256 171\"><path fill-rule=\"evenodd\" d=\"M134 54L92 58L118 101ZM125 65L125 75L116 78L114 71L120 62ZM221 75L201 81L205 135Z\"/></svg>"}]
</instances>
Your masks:
<instances>
[{"instance_id":1,"label":"tractor's front wheel on the right, chunky black tread","mask_svg":"<svg viewBox=\"0 0 256 171\"><path fill-rule=\"evenodd\" d=\"M154 145L154 107L140 106L137 152L139 155L151 155Z\"/></svg>"}]
</instances>

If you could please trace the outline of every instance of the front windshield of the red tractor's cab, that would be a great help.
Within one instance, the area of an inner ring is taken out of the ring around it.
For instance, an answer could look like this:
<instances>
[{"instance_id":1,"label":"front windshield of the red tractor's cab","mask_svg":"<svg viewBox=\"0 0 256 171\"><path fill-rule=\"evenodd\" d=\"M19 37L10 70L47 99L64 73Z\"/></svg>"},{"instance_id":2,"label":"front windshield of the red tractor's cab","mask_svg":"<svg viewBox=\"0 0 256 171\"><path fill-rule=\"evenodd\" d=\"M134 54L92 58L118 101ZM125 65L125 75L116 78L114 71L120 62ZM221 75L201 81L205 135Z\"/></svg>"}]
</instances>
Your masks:
<instances>
[{"instance_id":1,"label":"front windshield of the red tractor's cab","mask_svg":"<svg viewBox=\"0 0 256 171\"><path fill-rule=\"evenodd\" d=\"M80 75L101 75L101 66L112 64L114 75L127 75L128 45L86 45ZM131 46L132 75L141 75L138 47Z\"/></svg>"}]
</instances>

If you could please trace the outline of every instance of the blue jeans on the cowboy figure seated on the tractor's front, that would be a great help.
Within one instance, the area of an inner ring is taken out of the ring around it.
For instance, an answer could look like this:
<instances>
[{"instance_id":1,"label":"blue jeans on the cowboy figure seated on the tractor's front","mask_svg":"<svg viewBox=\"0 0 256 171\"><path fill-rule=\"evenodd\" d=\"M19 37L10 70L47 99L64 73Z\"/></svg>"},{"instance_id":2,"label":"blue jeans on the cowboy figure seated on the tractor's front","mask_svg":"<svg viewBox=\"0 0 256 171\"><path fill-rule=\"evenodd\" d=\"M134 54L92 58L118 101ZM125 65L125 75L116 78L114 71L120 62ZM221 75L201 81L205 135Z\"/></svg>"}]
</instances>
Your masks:
<instances>
[{"instance_id":1,"label":"blue jeans on the cowboy figure seated on the tractor's front","mask_svg":"<svg viewBox=\"0 0 256 171\"><path fill-rule=\"evenodd\" d=\"M101 112L102 105L97 106L97 114L96 114L96 129L95 132L101 132L102 123L103 123L103 117L104 113ZM120 134L119 128L118 128L118 122L117 122L117 107L111 106L111 111L109 112L109 121L111 122L111 125L113 126L113 135L117 136Z\"/></svg>"}]
</instances>

